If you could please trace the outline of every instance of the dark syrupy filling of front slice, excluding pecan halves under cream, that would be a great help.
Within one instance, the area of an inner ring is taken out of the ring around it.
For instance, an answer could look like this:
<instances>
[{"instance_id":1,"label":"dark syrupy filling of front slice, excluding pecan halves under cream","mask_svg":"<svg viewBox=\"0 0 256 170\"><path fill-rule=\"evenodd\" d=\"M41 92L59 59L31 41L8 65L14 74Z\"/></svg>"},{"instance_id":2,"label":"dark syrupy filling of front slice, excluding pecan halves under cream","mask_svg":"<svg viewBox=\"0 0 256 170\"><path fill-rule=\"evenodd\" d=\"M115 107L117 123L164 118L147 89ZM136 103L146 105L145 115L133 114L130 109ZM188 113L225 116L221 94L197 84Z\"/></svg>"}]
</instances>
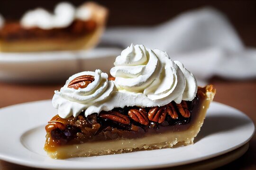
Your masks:
<instances>
[{"instance_id":1,"label":"dark syrupy filling of front slice, excluding pecan halves under cream","mask_svg":"<svg viewBox=\"0 0 256 170\"><path fill-rule=\"evenodd\" d=\"M47 140L45 147L48 150L54 150L59 145L81 144L102 140L134 139L165 131L186 130L190 127L193 117L198 113L201 97L203 96L197 94L191 102L186 101L190 117L183 117L175 102L171 102L177 111L177 119L173 119L169 114L166 114L163 122L158 123L149 120L147 125L143 125L128 116L129 110L139 109L138 107L115 108L111 110L127 116L130 120L129 124L104 119L99 116L101 113L85 117L84 112L81 112L78 117L74 118L71 116L67 119L62 119L56 115L46 126ZM150 109L152 108L145 108L147 113Z\"/></svg>"}]
</instances>

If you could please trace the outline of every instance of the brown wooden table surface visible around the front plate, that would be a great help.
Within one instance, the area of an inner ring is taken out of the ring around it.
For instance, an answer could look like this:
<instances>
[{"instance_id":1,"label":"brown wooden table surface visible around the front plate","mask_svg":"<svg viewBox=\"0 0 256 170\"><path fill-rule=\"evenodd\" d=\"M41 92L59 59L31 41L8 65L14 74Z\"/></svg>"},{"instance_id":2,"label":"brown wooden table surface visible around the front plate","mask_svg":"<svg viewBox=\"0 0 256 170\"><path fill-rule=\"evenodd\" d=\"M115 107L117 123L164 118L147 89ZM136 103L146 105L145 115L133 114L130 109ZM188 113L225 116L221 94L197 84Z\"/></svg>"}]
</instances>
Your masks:
<instances>
[{"instance_id":1,"label":"brown wooden table surface visible around the front plate","mask_svg":"<svg viewBox=\"0 0 256 170\"><path fill-rule=\"evenodd\" d=\"M214 101L237 108L256 122L256 80L225 81L215 78L210 83L217 89ZM60 89L61 86L0 83L0 108L22 102L51 99L54 90ZM256 135L250 140L249 149L243 156L219 169L256 170ZM32 168L0 161L0 170Z\"/></svg>"}]
</instances>

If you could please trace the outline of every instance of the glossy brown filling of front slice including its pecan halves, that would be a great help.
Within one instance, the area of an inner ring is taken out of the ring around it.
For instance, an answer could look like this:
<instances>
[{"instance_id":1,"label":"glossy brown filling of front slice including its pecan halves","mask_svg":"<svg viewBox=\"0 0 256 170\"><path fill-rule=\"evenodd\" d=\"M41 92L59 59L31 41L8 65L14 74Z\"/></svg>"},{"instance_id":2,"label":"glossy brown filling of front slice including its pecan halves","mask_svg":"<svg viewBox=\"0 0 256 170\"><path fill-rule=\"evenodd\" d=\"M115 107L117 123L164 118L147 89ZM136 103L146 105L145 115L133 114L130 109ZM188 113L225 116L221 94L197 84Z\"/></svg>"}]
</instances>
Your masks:
<instances>
[{"instance_id":1,"label":"glossy brown filling of front slice including its pecan halves","mask_svg":"<svg viewBox=\"0 0 256 170\"><path fill-rule=\"evenodd\" d=\"M54 148L64 144L80 144L112 139L132 139L149 133L167 130L185 130L193 114L197 112L200 97L181 104L171 102L161 107L115 108L100 114L62 119L56 115L46 126L46 147ZM195 112L195 113L194 113Z\"/></svg>"}]
</instances>

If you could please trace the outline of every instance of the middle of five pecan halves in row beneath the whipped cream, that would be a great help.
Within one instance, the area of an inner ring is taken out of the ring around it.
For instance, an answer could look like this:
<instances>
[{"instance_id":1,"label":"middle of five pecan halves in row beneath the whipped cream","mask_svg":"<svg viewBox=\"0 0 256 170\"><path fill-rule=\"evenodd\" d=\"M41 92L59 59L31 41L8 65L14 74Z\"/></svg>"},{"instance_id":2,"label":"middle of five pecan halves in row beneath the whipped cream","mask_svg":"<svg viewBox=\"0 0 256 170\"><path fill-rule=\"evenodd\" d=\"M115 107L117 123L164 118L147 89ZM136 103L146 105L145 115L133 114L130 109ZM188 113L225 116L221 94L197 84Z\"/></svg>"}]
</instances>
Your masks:
<instances>
[{"instance_id":1,"label":"middle of five pecan halves in row beneath the whipped cream","mask_svg":"<svg viewBox=\"0 0 256 170\"><path fill-rule=\"evenodd\" d=\"M166 113L167 112L164 107L153 107L148 111L148 119L162 123L165 120Z\"/></svg>"}]
</instances>

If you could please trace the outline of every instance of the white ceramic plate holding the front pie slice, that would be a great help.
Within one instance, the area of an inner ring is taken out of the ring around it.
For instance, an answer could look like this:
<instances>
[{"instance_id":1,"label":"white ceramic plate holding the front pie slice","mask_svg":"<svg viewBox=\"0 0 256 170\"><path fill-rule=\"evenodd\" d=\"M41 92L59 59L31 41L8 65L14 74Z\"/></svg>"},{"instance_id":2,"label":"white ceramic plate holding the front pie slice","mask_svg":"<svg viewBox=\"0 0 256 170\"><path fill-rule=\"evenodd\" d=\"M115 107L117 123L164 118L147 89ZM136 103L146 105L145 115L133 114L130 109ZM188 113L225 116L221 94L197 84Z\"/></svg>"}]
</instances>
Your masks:
<instances>
[{"instance_id":1,"label":"white ceramic plate holding the front pie slice","mask_svg":"<svg viewBox=\"0 0 256 170\"><path fill-rule=\"evenodd\" d=\"M48 169L141 169L177 166L228 153L252 137L255 127L241 111L212 102L195 144L173 149L54 160L43 150L45 125L57 110L51 101L0 109L0 159Z\"/></svg>"}]
</instances>

